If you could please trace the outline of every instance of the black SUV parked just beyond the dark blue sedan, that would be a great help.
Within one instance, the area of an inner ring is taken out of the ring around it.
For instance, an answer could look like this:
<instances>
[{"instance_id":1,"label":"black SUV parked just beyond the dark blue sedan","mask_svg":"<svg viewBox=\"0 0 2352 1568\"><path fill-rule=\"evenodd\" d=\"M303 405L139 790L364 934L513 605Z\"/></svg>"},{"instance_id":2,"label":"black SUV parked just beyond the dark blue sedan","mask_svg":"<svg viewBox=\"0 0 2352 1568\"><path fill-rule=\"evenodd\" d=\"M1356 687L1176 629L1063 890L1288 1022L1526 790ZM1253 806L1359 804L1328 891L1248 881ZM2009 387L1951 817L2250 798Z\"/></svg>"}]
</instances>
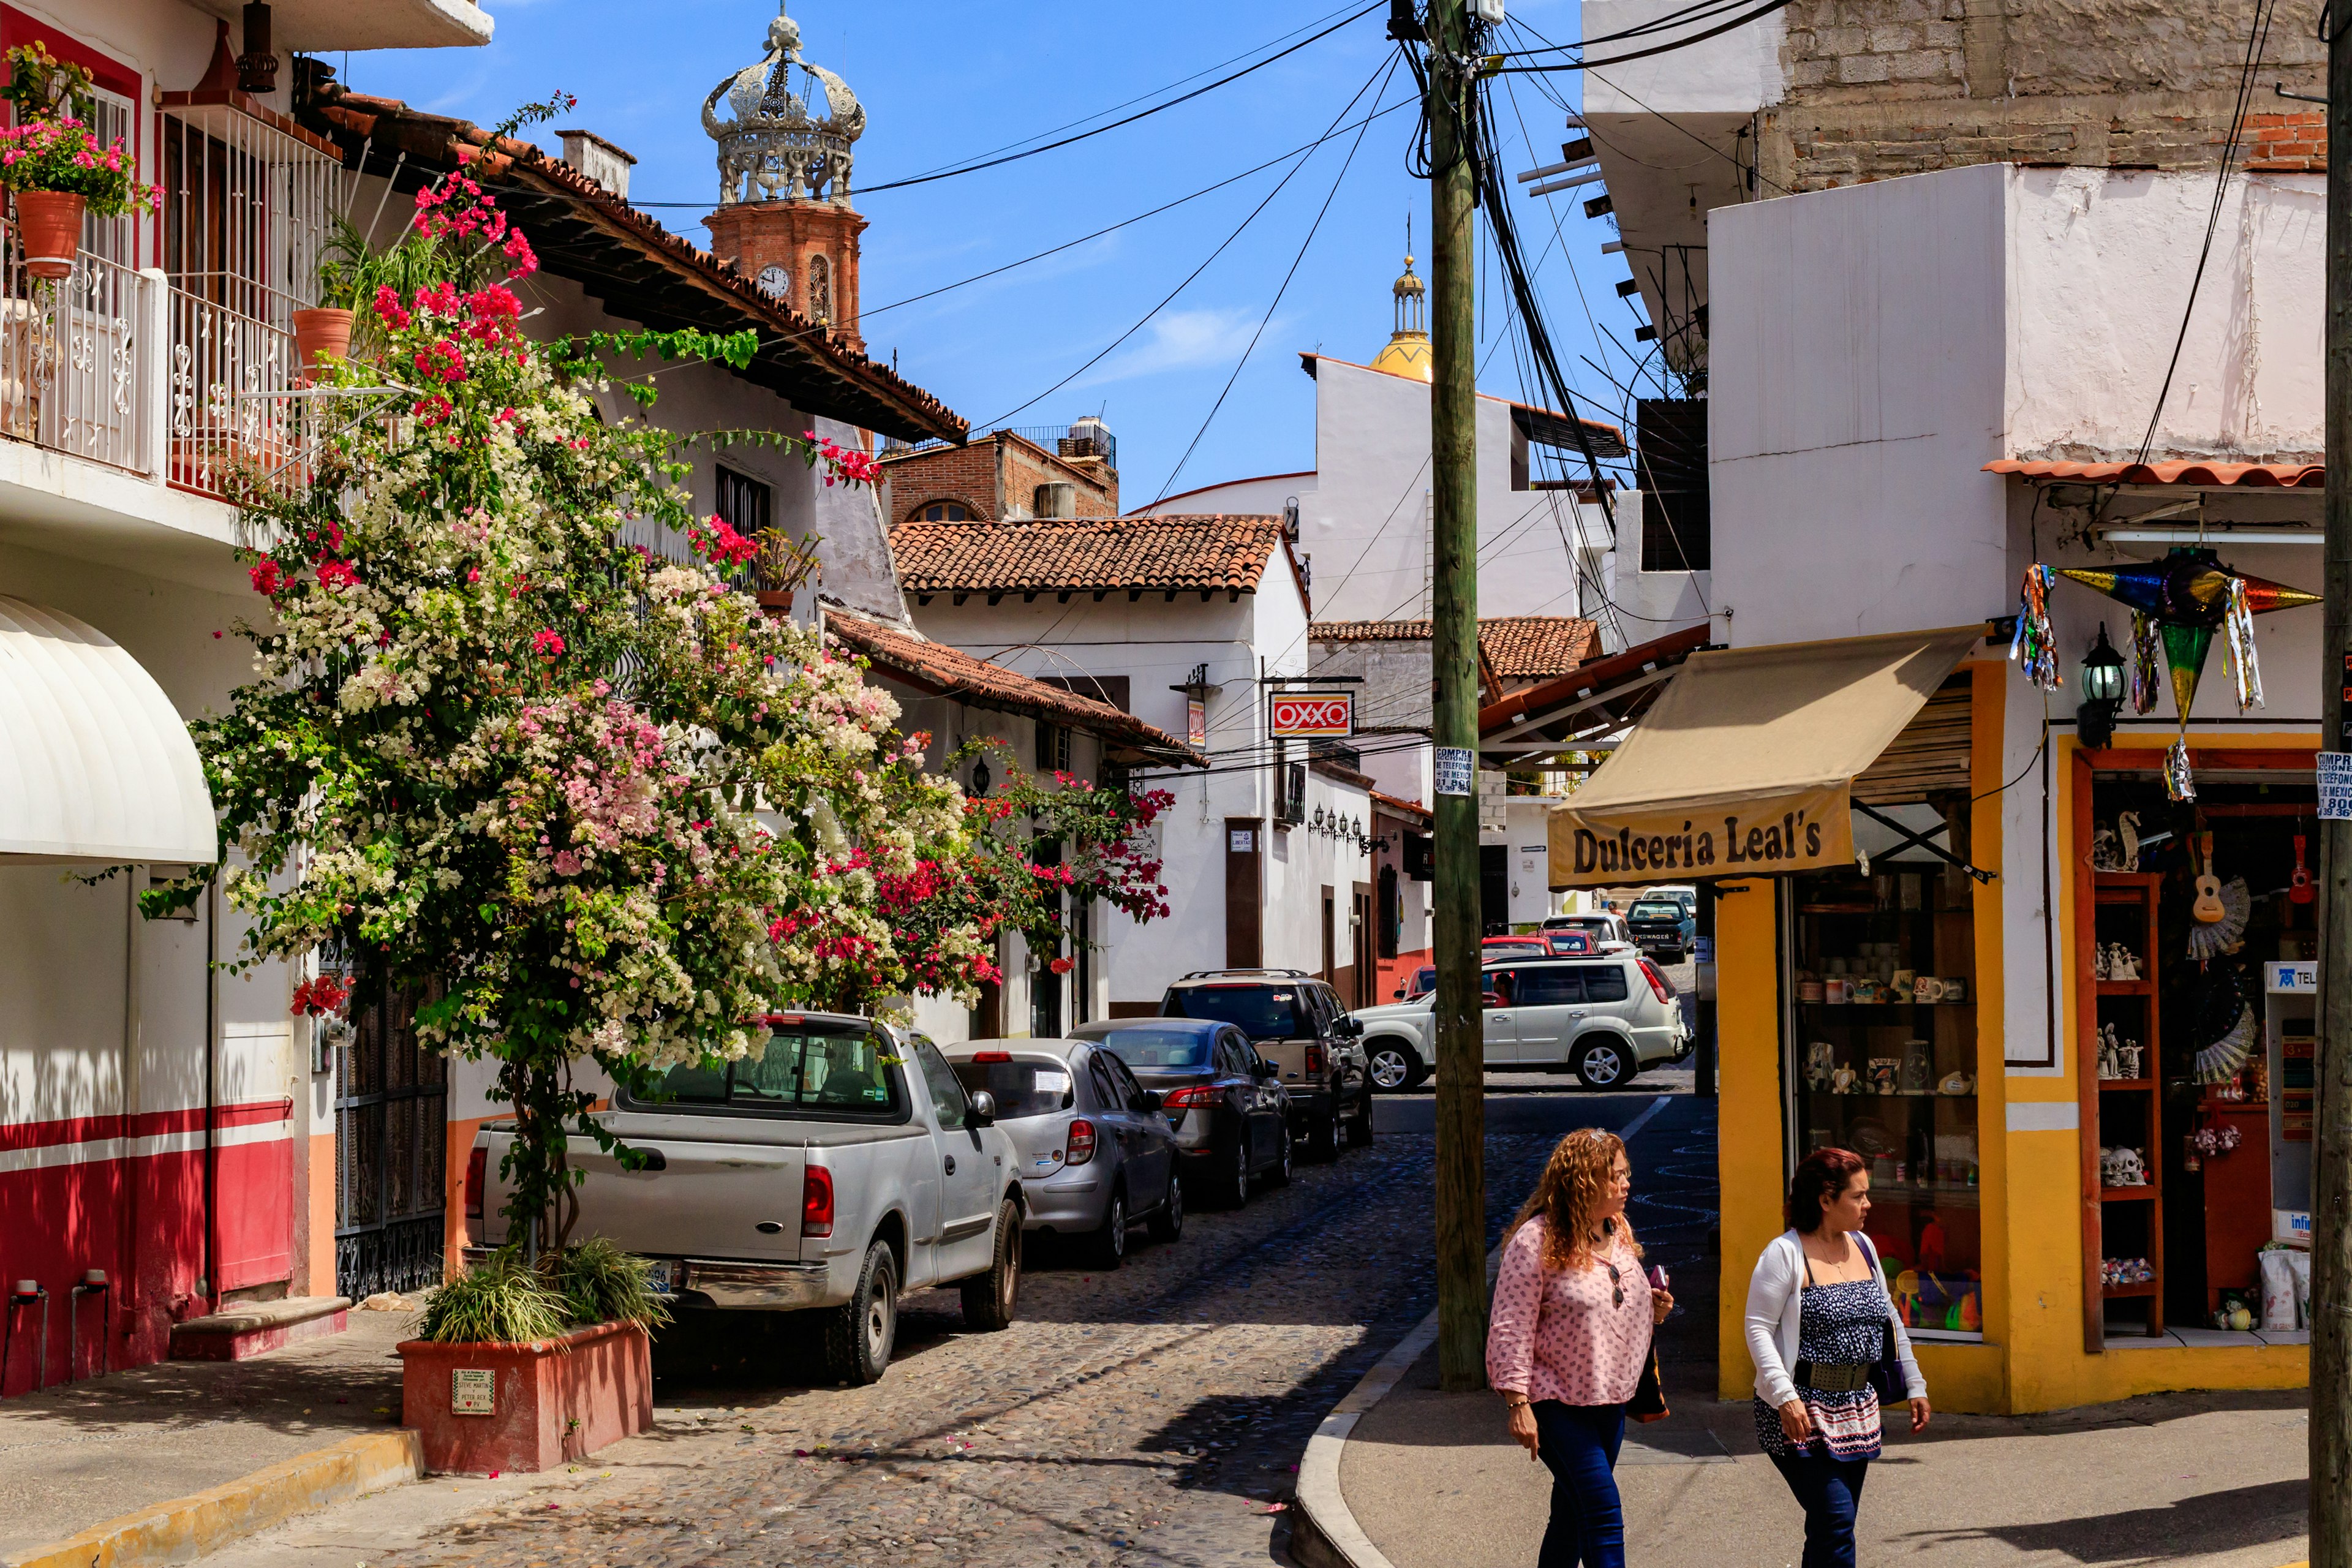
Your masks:
<instances>
[{"instance_id":1,"label":"black SUV parked just beyond the dark blue sedan","mask_svg":"<svg viewBox=\"0 0 2352 1568\"><path fill-rule=\"evenodd\" d=\"M1336 1159L1341 1143L1371 1143L1371 1072L1364 1025L1338 992L1298 969L1202 969L1160 999L1164 1018L1230 1023L1270 1060L1291 1095L1291 1133L1308 1157Z\"/></svg>"}]
</instances>

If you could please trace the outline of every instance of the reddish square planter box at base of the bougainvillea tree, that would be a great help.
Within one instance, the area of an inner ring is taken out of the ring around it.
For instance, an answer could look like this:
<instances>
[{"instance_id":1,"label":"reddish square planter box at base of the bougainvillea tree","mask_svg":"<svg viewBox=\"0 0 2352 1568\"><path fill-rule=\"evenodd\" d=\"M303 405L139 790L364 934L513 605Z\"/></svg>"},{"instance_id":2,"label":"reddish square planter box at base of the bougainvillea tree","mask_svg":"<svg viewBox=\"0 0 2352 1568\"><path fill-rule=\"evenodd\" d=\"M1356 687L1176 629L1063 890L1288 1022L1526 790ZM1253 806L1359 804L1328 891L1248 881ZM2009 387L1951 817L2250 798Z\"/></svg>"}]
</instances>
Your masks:
<instances>
[{"instance_id":1,"label":"reddish square planter box at base of the bougainvillea tree","mask_svg":"<svg viewBox=\"0 0 2352 1568\"><path fill-rule=\"evenodd\" d=\"M595 1324L529 1345L400 1345L400 1425L426 1469L555 1469L654 1425L652 1340Z\"/></svg>"}]
</instances>

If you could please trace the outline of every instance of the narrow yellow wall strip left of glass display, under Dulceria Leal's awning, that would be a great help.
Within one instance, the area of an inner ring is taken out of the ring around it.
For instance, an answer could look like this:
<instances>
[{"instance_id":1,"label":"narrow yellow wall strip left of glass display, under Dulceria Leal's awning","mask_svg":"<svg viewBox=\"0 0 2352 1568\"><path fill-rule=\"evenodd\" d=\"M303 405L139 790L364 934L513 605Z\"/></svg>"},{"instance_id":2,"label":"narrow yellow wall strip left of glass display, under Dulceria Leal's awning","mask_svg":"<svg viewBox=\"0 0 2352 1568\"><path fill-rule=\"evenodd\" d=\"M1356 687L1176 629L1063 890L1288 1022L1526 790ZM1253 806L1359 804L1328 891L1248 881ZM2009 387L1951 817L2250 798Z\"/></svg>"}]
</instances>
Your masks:
<instances>
[{"instance_id":1,"label":"narrow yellow wall strip left of glass display, under Dulceria Leal's awning","mask_svg":"<svg viewBox=\"0 0 2352 1568\"><path fill-rule=\"evenodd\" d=\"M1715 1159L1722 1178L1722 1312L1717 1378L1724 1399L1755 1394L1748 1361L1748 1274L1780 1225L1780 938L1776 882L1719 882L1715 905Z\"/></svg>"}]
</instances>

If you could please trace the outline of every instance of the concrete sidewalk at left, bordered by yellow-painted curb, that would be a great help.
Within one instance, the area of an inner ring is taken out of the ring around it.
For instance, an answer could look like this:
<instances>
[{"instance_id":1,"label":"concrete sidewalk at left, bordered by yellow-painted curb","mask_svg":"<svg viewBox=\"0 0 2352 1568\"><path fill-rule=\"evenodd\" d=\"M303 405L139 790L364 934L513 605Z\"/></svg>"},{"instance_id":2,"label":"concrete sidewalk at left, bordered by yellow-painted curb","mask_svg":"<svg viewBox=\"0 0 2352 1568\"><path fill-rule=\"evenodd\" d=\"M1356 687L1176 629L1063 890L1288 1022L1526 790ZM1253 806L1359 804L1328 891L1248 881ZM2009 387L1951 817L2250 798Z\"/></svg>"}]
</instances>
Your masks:
<instances>
[{"instance_id":1,"label":"concrete sidewalk at left, bordered by yellow-painted curb","mask_svg":"<svg viewBox=\"0 0 2352 1568\"><path fill-rule=\"evenodd\" d=\"M400 1425L414 1312L252 1361L165 1361L0 1401L0 1561Z\"/></svg>"}]
</instances>

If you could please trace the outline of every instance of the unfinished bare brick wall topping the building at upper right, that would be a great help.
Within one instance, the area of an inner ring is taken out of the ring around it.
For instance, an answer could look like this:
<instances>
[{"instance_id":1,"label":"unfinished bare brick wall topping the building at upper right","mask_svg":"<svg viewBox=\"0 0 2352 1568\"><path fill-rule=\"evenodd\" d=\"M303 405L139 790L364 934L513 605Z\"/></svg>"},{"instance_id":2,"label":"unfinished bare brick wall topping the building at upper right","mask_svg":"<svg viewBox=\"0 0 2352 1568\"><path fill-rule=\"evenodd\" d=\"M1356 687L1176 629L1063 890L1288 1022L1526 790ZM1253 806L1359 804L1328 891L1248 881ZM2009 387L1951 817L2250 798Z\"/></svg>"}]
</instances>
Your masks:
<instances>
[{"instance_id":1,"label":"unfinished bare brick wall topping the building at upper right","mask_svg":"<svg viewBox=\"0 0 2352 1568\"><path fill-rule=\"evenodd\" d=\"M1785 16L1788 96L1759 115L1757 162L1792 190L1969 162L2213 167L2251 19L2183 0L1797 0ZM2321 92L2310 33L2270 31L2263 108L2277 80ZM2317 169L2314 120L2251 118L2253 167Z\"/></svg>"}]
</instances>

